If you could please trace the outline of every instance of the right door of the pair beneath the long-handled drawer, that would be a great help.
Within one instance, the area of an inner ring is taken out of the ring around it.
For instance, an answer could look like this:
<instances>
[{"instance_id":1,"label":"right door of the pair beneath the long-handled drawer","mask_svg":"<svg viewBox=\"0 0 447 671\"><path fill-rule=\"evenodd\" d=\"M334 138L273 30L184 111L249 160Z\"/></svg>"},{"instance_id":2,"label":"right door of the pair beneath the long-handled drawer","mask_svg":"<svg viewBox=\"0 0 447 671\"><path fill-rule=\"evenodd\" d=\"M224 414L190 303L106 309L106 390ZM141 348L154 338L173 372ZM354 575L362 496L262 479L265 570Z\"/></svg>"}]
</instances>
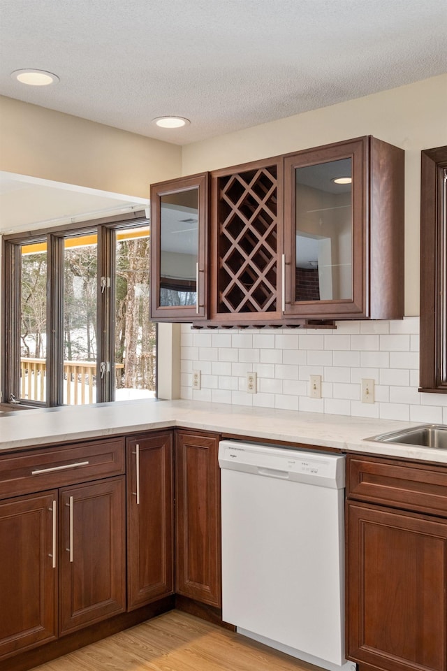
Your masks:
<instances>
[{"instance_id":1,"label":"right door of the pair beneath the long-handled drawer","mask_svg":"<svg viewBox=\"0 0 447 671\"><path fill-rule=\"evenodd\" d=\"M60 491L59 634L125 608L124 476Z\"/></svg>"}]
</instances>

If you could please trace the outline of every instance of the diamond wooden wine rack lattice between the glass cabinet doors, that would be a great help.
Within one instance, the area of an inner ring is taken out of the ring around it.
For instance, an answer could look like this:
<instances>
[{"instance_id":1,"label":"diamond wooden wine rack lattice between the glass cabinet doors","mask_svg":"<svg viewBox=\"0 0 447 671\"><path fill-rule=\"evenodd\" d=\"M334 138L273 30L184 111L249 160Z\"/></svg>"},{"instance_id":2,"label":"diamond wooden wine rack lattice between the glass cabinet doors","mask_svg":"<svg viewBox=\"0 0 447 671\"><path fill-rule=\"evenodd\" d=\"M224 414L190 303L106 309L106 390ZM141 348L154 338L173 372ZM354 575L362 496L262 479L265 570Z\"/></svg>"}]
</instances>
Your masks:
<instances>
[{"instance_id":1,"label":"diamond wooden wine rack lattice between the glass cabinet doors","mask_svg":"<svg viewBox=\"0 0 447 671\"><path fill-rule=\"evenodd\" d=\"M219 178L218 312L277 310L277 166Z\"/></svg>"}]
</instances>

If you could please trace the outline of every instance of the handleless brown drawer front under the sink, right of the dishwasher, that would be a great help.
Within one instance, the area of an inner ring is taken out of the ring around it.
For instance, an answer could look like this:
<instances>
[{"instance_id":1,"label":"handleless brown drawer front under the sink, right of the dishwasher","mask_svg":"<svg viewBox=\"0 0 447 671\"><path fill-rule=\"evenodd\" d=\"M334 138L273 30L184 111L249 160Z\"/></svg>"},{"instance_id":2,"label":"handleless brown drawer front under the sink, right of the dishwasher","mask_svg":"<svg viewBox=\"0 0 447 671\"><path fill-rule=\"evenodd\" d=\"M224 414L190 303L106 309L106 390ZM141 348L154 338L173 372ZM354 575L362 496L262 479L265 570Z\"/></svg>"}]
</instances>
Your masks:
<instances>
[{"instance_id":1,"label":"handleless brown drawer front under the sink, right of the dishwasher","mask_svg":"<svg viewBox=\"0 0 447 671\"><path fill-rule=\"evenodd\" d=\"M444 466L349 455L346 468L349 498L447 516Z\"/></svg>"}]
</instances>

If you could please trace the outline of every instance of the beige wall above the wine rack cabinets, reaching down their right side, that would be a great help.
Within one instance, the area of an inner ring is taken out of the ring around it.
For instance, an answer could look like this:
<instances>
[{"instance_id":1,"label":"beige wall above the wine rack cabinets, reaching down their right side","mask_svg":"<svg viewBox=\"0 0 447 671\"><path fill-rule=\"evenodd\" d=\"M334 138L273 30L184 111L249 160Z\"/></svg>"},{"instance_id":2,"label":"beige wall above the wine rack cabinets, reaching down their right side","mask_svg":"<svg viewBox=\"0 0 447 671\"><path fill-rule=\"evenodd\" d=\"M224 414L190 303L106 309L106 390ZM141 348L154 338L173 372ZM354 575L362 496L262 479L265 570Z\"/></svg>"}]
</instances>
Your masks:
<instances>
[{"instance_id":1,"label":"beige wall above the wine rack cabinets, reaching down their right side","mask_svg":"<svg viewBox=\"0 0 447 671\"><path fill-rule=\"evenodd\" d=\"M182 174L373 135L405 150L405 313L419 313L420 151L447 144L447 75L183 148Z\"/></svg>"}]
</instances>

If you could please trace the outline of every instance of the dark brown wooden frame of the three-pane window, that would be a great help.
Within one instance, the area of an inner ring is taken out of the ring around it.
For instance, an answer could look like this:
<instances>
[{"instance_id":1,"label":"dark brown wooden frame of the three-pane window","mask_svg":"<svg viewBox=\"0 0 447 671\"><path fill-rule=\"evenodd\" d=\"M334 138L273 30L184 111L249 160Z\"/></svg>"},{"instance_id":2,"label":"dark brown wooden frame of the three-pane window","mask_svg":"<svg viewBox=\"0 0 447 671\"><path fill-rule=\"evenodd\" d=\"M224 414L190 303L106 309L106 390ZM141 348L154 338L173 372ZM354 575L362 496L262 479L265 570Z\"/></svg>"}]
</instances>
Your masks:
<instances>
[{"instance_id":1,"label":"dark brown wooden frame of the three-pane window","mask_svg":"<svg viewBox=\"0 0 447 671\"><path fill-rule=\"evenodd\" d=\"M115 400L115 233L119 229L149 225L145 211L91 219L85 222L52 227L26 233L3 236L2 261L2 361L1 390L3 403L10 403L13 394L21 405L31 407L62 406L63 385L61 384L64 366L63 338L63 301L64 238L76 234L82 235L88 230L97 234L98 276L97 276L97 330L101 337L97 340L96 361L96 403ZM150 229L149 229L150 230ZM45 240L47 243L47 395L45 402L27 401L20 398L20 323L21 323L21 252L22 245ZM148 257L150 263L150 254ZM110 289L105 300L101 297L101 277L110 277ZM15 328L18 325L18 328ZM101 379L100 363L110 361L110 370ZM158 366L156 366L156 371ZM157 376L157 375L156 375ZM156 393L156 390L155 390Z\"/></svg>"}]
</instances>

